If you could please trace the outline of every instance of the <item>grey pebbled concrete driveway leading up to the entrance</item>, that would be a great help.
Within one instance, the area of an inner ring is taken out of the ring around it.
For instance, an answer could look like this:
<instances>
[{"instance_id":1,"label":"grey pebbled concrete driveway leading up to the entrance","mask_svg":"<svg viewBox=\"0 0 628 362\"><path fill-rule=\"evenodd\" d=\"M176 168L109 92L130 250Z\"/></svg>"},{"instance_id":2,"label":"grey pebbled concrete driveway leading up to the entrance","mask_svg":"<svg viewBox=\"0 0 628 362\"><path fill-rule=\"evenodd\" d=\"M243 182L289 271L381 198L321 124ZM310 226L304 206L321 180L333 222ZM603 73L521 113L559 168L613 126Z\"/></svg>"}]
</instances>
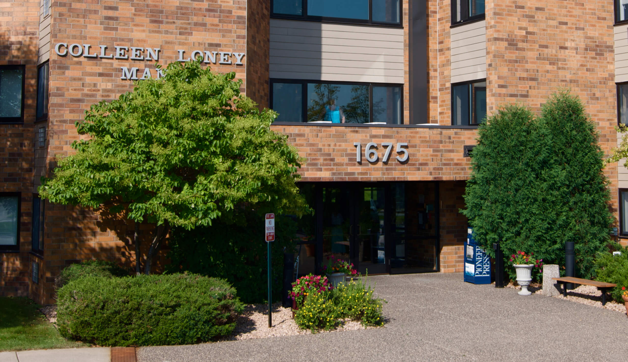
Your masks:
<instances>
[{"instance_id":1,"label":"grey pebbled concrete driveway leading up to the entrance","mask_svg":"<svg viewBox=\"0 0 628 362\"><path fill-rule=\"evenodd\" d=\"M139 362L598 361L628 355L625 314L473 285L462 274L370 277L385 327L137 349Z\"/></svg>"}]
</instances>

